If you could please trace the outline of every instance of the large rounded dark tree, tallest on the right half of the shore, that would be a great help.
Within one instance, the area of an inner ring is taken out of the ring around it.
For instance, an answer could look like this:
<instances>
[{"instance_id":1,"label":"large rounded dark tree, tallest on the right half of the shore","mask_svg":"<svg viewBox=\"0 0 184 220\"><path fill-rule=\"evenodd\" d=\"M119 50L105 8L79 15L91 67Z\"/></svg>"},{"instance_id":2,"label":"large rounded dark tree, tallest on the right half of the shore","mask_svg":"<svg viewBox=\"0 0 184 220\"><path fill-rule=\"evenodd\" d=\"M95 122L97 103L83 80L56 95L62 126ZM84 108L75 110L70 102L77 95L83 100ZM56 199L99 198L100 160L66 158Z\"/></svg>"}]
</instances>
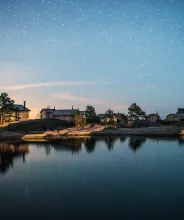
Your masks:
<instances>
[{"instance_id":1,"label":"large rounded dark tree, tallest on the right half of the shore","mask_svg":"<svg viewBox=\"0 0 184 220\"><path fill-rule=\"evenodd\" d=\"M138 106L136 103L133 103L128 108L128 117L131 120L139 120L139 119L145 119L146 114L141 109L140 106Z\"/></svg>"}]
</instances>

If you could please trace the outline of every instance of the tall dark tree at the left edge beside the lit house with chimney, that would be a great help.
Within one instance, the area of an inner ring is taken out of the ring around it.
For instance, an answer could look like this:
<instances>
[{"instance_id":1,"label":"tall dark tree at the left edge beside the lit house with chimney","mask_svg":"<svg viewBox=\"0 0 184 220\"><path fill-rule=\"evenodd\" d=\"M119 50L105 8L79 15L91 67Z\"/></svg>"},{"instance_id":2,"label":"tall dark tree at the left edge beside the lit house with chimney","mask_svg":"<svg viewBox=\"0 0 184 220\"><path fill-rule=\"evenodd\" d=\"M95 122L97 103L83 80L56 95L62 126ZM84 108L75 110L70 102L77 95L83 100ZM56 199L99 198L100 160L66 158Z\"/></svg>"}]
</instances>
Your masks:
<instances>
[{"instance_id":1,"label":"tall dark tree at the left edge beside the lit house with chimney","mask_svg":"<svg viewBox=\"0 0 184 220\"><path fill-rule=\"evenodd\" d=\"M12 100L8 93L1 93L0 95L0 115L1 115L1 123L3 123L5 114L9 114L11 111L15 111L14 100Z\"/></svg>"}]
</instances>

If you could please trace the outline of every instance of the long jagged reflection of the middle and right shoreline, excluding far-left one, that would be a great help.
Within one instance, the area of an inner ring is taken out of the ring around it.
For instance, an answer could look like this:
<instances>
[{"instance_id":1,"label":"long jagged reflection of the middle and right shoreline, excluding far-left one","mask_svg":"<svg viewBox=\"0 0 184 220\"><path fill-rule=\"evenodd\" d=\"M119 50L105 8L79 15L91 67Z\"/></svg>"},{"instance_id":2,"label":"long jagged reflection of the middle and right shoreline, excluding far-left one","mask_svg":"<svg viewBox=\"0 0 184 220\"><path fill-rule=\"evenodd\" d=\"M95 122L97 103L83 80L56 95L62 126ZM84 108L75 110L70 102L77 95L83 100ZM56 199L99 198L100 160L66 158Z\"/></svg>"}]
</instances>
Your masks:
<instances>
[{"instance_id":1,"label":"long jagged reflection of the middle and right shoreline, excluding far-left one","mask_svg":"<svg viewBox=\"0 0 184 220\"><path fill-rule=\"evenodd\" d=\"M156 141L178 141L178 145L184 145L184 138L152 138L147 139L144 137L116 137L116 136L109 136L109 137L86 137L86 138L69 138L69 139L62 139L56 140L51 142L42 142L42 143L34 143L34 146L38 148L44 148L45 153L47 156L50 155L51 149L55 151L63 151L63 152L71 152L72 154L80 153L85 148L87 153L94 153L97 143L103 142L105 143L107 149L112 151L117 144L117 142L121 145L126 144L128 140L128 146L133 152L137 152L143 147L147 140Z\"/></svg>"}]
</instances>

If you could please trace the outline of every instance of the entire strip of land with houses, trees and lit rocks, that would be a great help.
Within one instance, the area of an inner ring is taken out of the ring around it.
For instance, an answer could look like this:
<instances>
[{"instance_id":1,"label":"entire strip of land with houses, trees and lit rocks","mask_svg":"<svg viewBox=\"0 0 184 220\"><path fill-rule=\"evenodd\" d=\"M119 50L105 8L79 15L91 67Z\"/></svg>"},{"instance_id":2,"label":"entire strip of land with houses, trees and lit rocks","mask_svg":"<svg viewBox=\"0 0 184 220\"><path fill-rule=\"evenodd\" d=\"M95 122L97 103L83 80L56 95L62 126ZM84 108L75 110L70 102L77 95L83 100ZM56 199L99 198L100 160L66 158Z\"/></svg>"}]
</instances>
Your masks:
<instances>
[{"instance_id":1,"label":"entire strip of land with houses, trees and lit rocks","mask_svg":"<svg viewBox=\"0 0 184 220\"><path fill-rule=\"evenodd\" d=\"M23 109L25 110L25 101ZM29 110L29 109L28 109ZM19 108L7 93L0 95L0 140L47 141L87 136L143 136L178 137L184 135L184 108L161 120L158 112L146 114L136 103L128 107L128 114L108 109L96 114L95 107L56 110L48 106L40 112L40 119L21 118ZM57 114L54 114L56 113ZM27 115L28 116L28 115ZM6 125L4 124L6 123Z\"/></svg>"}]
</instances>

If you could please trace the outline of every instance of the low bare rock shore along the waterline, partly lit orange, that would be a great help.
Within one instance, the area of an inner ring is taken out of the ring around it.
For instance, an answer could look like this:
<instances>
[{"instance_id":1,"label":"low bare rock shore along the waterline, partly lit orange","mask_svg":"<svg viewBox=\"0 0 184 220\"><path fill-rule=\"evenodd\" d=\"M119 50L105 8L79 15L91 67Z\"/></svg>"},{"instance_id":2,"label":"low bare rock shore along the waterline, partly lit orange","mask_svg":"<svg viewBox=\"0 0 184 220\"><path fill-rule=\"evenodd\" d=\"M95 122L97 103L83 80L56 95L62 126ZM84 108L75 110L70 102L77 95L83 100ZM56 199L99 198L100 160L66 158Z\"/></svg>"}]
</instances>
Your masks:
<instances>
[{"instance_id":1,"label":"low bare rock shore along the waterline, partly lit orange","mask_svg":"<svg viewBox=\"0 0 184 220\"><path fill-rule=\"evenodd\" d=\"M48 141L87 136L179 137L183 135L184 126L114 128L112 126L94 125L84 128L66 128L54 131L32 131L26 134L24 132L3 130L0 132L0 140Z\"/></svg>"}]
</instances>

